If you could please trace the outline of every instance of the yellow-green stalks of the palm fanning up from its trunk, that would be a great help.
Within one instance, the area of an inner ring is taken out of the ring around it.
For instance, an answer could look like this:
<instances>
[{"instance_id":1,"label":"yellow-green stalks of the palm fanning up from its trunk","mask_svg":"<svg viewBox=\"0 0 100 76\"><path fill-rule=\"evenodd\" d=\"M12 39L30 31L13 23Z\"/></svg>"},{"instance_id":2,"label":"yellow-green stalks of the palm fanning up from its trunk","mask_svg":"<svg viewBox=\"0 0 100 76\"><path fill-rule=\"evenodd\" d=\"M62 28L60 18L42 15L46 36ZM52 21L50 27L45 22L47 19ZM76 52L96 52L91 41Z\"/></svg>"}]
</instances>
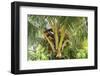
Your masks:
<instances>
[{"instance_id":1,"label":"yellow-green stalks of the palm fanning up from its trunk","mask_svg":"<svg viewBox=\"0 0 100 76\"><path fill-rule=\"evenodd\" d=\"M50 40L50 38L48 36L46 36L45 34L44 34L44 36L45 36L46 40L48 41L48 43L50 44L50 47L51 47L53 53L56 53L56 58L60 59L60 58L62 58L62 50L64 48L63 45L66 44L66 39L65 39L66 29L65 29L64 25L58 26L59 24L58 24L58 21L56 20L56 18L54 18L52 20L48 19L48 21L51 26L52 32L54 33L55 41Z\"/></svg>"}]
</instances>

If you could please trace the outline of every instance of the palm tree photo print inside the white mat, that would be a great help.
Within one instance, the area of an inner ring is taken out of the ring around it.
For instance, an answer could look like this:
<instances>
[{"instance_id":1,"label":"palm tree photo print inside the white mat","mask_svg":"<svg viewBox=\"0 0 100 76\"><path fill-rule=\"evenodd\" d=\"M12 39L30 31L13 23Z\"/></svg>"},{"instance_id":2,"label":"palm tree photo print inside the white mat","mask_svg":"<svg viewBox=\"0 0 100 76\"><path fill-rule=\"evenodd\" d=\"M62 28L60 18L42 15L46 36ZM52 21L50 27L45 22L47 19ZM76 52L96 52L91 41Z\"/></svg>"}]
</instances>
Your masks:
<instances>
[{"instance_id":1,"label":"palm tree photo print inside the white mat","mask_svg":"<svg viewBox=\"0 0 100 76\"><path fill-rule=\"evenodd\" d=\"M28 15L28 60L88 57L87 17Z\"/></svg>"}]
</instances>

